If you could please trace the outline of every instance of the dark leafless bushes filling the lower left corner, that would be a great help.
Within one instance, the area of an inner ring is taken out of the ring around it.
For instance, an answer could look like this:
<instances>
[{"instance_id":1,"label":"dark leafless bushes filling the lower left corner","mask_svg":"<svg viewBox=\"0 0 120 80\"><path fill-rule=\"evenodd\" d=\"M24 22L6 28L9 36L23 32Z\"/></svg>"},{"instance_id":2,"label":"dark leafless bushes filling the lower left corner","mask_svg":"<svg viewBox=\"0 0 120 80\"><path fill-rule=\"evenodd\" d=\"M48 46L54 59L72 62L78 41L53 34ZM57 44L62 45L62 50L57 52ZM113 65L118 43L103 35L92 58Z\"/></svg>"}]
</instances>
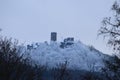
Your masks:
<instances>
[{"instance_id":1,"label":"dark leafless bushes filling the lower left corner","mask_svg":"<svg viewBox=\"0 0 120 80\"><path fill-rule=\"evenodd\" d=\"M17 41L0 38L0 80L42 80L44 68L23 58Z\"/></svg>"}]
</instances>

